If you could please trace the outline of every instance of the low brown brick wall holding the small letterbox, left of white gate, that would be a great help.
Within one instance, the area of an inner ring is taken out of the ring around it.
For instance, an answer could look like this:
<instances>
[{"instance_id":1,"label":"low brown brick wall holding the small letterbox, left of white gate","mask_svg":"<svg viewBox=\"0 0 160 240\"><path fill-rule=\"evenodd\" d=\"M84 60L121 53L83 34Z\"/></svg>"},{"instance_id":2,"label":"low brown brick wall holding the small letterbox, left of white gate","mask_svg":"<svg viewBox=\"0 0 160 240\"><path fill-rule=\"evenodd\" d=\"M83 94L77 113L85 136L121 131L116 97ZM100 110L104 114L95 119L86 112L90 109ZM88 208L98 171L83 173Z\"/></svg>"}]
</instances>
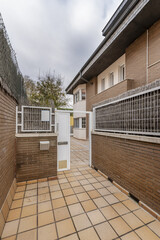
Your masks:
<instances>
[{"instance_id":1,"label":"low brown brick wall holding the small letterbox, left of white gate","mask_svg":"<svg viewBox=\"0 0 160 240\"><path fill-rule=\"evenodd\" d=\"M40 151L40 141L50 141L49 151ZM57 176L57 137L17 137L17 181Z\"/></svg>"}]
</instances>

